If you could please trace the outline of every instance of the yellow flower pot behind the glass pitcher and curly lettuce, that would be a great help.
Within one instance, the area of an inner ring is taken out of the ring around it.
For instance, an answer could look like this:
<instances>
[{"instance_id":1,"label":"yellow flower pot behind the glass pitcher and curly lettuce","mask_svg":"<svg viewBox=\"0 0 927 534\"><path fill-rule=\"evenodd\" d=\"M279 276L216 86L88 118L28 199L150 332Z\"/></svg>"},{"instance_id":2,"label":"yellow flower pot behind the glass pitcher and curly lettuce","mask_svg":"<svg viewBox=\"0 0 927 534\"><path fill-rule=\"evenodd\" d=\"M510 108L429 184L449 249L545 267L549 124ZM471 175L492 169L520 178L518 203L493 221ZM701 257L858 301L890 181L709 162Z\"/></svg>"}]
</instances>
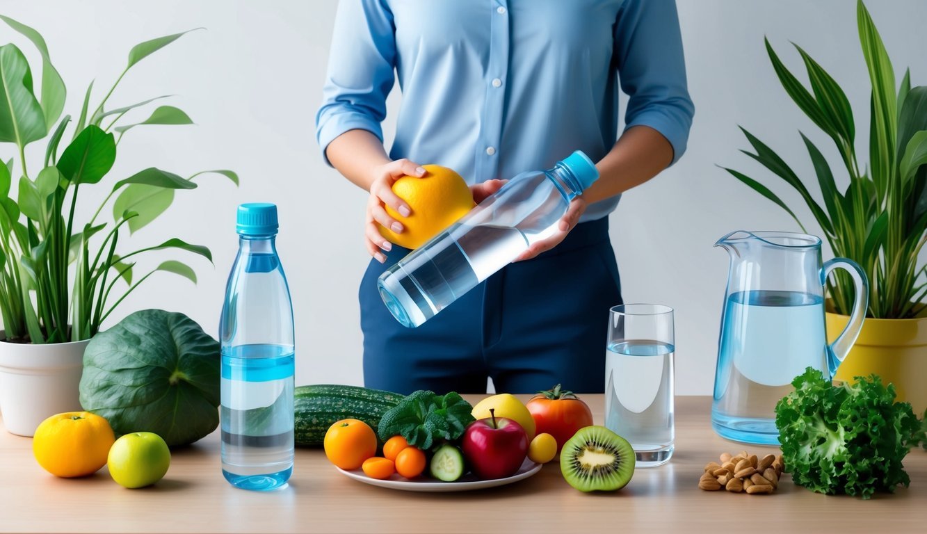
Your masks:
<instances>
[{"instance_id":1,"label":"yellow flower pot behind the glass pitcher and curly lettuce","mask_svg":"<svg viewBox=\"0 0 927 534\"><path fill-rule=\"evenodd\" d=\"M844 331L849 317L826 313L829 342ZM919 417L927 409L927 317L869 319L856 344L837 368L837 380L876 374L895 384L898 401L910 402Z\"/></svg>"}]
</instances>

